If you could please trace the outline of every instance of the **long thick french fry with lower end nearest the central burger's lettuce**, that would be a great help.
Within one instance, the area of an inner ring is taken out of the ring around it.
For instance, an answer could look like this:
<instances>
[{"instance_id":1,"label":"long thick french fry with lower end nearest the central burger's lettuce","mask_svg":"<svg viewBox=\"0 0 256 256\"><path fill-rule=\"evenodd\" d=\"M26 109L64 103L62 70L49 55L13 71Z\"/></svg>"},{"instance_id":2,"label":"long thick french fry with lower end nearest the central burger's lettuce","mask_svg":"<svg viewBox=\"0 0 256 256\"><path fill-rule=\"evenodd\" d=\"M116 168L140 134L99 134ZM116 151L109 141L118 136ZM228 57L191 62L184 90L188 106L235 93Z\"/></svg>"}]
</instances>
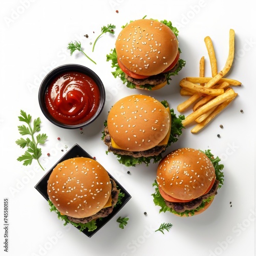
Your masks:
<instances>
[{"instance_id":1,"label":"long thick french fry with lower end nearest the central burger's lettuce","mask_svg":"<svg viewBox=\"0 0 256 256\"><path fill-rule=\"evenodd\" d=\"M224 92L223 94L215 97L214 99L207 102L205 105L201 106L198 110L195 112L189 114L185 119L182 121L183 126L188 125L189 123L195 121L199 116L201 116L203 113L207 112L211 108L214 108L214 106L217 106L224 102L227 99L233 98L236 95L233 89L230 88L230 90Z\"/></svg>"}]
</instances>

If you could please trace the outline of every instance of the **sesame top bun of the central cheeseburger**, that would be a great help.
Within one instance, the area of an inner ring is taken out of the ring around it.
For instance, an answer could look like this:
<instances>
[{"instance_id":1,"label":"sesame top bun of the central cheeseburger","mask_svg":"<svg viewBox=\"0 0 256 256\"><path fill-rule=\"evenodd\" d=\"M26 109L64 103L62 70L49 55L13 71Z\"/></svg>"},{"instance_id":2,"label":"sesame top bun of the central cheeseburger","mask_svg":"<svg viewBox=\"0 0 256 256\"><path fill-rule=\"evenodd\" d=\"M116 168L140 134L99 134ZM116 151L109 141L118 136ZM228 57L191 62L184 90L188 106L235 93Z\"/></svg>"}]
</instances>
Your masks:
<instances>
[{"instance_id":1,"label":"sesame top bun of the central cheeseburger","mask_svg":"<svg viewBox=\"0 0 256 256\"><path fill-rule=\"evenodd\" d=\"M169 131L170 114L163 104L145 95L117 101L109 112L108 130L126 151L145 151L161 142Z\"/></svg>"}]
</instances>

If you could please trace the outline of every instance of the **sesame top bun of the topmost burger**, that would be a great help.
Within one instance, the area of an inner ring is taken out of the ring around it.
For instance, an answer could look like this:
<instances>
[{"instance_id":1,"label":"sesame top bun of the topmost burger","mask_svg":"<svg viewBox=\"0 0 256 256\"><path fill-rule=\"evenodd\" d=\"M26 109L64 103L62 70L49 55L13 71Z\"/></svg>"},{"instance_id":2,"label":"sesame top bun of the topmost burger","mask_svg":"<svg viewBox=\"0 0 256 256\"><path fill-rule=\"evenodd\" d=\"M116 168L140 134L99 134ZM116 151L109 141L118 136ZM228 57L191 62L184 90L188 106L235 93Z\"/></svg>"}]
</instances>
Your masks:
<instances>
[{"instance_id":1,"label":"sesame top bun of the topmost burger","mask_svg":"<svg viewBox=\"0 0 256 256\"><path fill-rule=\"evenodd\" d=\"M178 40L169 27L157 20L138 19L119 33L116 53L122 64L132 72L157 75L176 58Z\"/></svg>"}]
</instances>

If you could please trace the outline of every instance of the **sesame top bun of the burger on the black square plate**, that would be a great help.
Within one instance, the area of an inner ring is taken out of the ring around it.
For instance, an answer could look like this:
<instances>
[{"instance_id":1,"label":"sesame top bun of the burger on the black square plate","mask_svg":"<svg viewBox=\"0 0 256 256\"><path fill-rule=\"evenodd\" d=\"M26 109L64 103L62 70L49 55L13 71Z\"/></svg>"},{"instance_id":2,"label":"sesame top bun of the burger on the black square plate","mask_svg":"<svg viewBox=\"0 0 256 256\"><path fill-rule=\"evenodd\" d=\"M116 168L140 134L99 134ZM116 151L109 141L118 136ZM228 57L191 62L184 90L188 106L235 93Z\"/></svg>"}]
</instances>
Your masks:
<instances>
[{"instance_id":1,"label":"sesame top bun of the burger on the black square plate","mask_svg":"<svg viewBox=\"0 0 256 256\"><path fill-rule=\"evenodd\" d=\"M57 164L48 180L47 191L61 214L85 218L96 214L108 202L111 182L97 161L77 157Z\"/></svg>"}]
</instances>

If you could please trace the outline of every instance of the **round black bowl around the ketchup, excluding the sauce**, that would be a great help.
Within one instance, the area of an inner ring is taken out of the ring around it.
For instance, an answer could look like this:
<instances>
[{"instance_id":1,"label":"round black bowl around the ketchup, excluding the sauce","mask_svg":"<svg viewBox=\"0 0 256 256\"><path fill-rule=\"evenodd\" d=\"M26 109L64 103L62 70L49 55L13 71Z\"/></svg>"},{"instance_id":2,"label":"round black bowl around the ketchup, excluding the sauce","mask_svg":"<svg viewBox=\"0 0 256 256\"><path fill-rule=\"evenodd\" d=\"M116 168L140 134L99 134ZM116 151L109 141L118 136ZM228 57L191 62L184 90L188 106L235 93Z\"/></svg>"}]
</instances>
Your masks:
<instances>
[{"instance_id":1,"label":"round black bowl around the ketchup, excluding the sauce","mask_svg":"<svg viewBox=\"0 0 256 256\"><path fill-rule=\"evenodd\" d=\"M65 73L65 72L80 72L83 73L87 76L89 76L90 78L92 78L92 80L95 81L95 83L97 84L98 88L99 88L99 106L97 106L97 111L94 114L94 116L92 116L89 120L85 121L85 122L81 122L79 124L66 124L66 123L62 123L60 121L57 121L48 111L47 106L46 106L46 101L45 101L45 97L46 97L46 93L47 93L47 89L49 87L49 85L51 84L51 82L53 81L53 79L55 79L56 77L60 76L61 74ZM90 123L92 123L101 113L104 104L105 104L105 89L104 89L104 85L102 83L102 81L100 80L100 78L98 77L98 75L92 71L91 69L81 66L81 65L76 65L76 64L67 64L67 65L63 65L63 66L59 66L55 69L53 69L50 73L47 74L47 76L44 78L44 80L42 80L40 88L39 88L39 92L38 92L38 100L39 100L39 105L40 105L40 109L42 111L42 113L44 113L44 115L46 116L46 118L51 121L53 124L62 127L62 128L66 128L66 129L78 129L84 126L89 125Z\"/></svg>"}]
</instances>

